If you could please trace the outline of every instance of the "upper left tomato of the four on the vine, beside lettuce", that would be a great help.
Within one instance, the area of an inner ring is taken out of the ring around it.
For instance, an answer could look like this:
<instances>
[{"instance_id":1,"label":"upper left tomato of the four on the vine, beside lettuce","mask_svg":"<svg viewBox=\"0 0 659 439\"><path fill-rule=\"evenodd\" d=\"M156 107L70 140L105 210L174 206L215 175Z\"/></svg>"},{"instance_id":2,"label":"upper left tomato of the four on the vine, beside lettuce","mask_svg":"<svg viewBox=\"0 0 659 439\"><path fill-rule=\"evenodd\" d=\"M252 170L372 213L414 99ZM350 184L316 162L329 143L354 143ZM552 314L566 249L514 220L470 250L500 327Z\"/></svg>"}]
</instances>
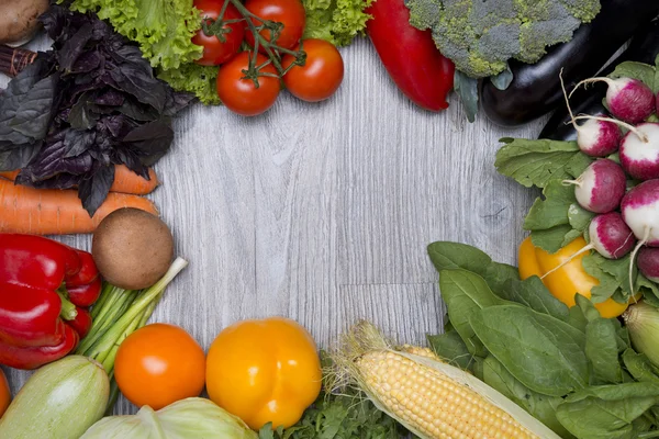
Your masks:
<instances>
[{"instance_id":1,"label":"upper left tomato of the four on the vine, beside lettuce","mask_svg":"<svg viewBox=\"0 0 659 439\"><path fill-rule=\"evenodd\" d=\"M215 30L215 20L222 12L223 1L221 0L194 0L194 8L202 12L205 19L209 35L201 29L192 37L192 43L198 46L203 46L203 56L196 63L202 66L217 66L233 58L241 49L241 43L245 37L245 24L242 22L224 24L219 30ZM243 15L231 3L228 3L224 12L223 21L242 19ZM217 23L220 24L220 23ZM213 31L215 33L213 33ZM224 37L224 42L220 41L220 36Z\"/></svg>"}]
</instances>

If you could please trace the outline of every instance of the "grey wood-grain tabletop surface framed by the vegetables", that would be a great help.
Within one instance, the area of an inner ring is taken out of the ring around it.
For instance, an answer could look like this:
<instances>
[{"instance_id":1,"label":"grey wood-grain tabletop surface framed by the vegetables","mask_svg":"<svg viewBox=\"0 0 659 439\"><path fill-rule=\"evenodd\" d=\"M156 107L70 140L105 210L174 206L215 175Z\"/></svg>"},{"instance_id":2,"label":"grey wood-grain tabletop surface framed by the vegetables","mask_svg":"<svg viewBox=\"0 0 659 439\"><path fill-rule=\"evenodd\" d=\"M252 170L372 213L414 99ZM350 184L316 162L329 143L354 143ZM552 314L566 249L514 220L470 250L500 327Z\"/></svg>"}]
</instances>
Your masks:
<instances>
[{"instance_id":1,"label":"grey wood-grain tabletop surface framed by the vegetables","mask_svg":"<svg viewBox=\"0 0 659 439\"><path fill-rule=\"evenodd\" d=\"M470 124L455 95L444 113L420 110L370 42L342 54L345 80L330 101L282 92L263 116L197 104L175 122L153 200L190 266L152 322L182 326L204 349L225 326L272 315L297 319L321 347L361 317L422 344L444 314L429 243L515 261L536 194L499 176L494 154L500 137L535 137L541 121ZM15 392L29 374L8 372Z\"/></svg>"}]
</instances>

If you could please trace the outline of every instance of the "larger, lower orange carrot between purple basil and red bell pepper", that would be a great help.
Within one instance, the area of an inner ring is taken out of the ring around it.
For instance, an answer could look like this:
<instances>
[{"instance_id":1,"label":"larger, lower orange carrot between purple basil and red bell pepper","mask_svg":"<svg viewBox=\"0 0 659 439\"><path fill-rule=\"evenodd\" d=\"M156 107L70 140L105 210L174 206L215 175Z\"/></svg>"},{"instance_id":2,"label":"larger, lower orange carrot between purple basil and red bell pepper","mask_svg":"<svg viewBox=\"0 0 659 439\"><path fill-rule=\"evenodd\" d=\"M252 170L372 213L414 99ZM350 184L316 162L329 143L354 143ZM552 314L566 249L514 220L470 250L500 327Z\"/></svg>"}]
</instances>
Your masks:
<instances>
[{"instance_id":1,"label":"larger, lower orange carrot between purple basil and red bell pepper","mask_svg":"<svg viewBox=\"0 0 659 439\"><path fill-rule=\"evenodd\" d=\"M91 233L105 216L122 207L141 209L158 215L158 210L147 199L110 193L90 218L75 190L34 189L0 179L0 233Z\"/></svg>"}]
</instances>

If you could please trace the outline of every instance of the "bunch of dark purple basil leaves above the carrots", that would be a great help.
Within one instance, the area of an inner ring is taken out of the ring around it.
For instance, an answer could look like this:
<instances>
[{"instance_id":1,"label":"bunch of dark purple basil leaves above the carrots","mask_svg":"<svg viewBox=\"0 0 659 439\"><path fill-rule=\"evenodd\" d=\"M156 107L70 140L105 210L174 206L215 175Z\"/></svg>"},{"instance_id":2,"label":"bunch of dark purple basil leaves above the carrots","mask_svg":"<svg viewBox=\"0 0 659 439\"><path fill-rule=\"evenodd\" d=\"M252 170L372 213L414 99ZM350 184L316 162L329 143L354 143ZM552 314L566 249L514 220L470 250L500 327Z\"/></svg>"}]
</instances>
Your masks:
<instances>
[{"instance_id":1,"label":"bunch of dark purple basil leaves above the carrots","mask_svg":"<svg viewBox=\"0 0 659 439\"><path fill-rule=\"evenodd\" d=\"M114 165L148 179L174 139L170 116L192 97L153 75L139 48L94 14L53 5L40 19L53 48L14 78L0 100L0 170L16 183L78 188L90 216Z\"/></svg>"}]
</instances>

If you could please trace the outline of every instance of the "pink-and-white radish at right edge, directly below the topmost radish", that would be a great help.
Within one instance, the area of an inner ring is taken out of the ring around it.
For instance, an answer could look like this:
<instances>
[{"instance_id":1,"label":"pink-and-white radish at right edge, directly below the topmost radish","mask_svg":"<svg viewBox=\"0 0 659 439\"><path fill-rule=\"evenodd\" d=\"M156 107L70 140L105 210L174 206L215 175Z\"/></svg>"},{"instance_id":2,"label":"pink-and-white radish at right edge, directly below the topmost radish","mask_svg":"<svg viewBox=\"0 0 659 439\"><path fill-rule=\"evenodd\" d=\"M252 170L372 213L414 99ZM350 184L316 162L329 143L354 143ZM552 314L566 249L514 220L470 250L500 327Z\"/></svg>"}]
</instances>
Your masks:
<instances>
[{"instance_id":1,"label":"pink-and-white radish at right edge, directly below the topmost radish","mask_svg":"<svg viewBox=\"0 0 659 439\"><path fill-rule=\"evenodd\" d=\"M659 178L659 124L643 123L625 135L621 142L621 165L635 179Z\"/></svg>"}]
</instances>

